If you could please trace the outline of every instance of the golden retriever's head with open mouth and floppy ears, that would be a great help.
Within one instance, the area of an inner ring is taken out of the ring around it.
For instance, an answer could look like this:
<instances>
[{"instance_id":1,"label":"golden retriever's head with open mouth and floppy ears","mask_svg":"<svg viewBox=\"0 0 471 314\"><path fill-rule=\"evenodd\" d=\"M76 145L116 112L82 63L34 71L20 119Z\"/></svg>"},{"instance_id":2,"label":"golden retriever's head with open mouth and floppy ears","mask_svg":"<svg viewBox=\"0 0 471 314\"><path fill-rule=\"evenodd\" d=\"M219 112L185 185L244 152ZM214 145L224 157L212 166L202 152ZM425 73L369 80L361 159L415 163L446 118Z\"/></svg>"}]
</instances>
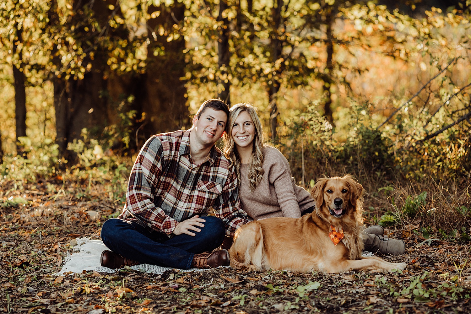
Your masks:
<instances>
[{"instance_id":1,"label":"golden retriever's head with open mouth and floppy ears","mask_svg":"<svg viewBox=\"0 0 471 314\"><path fill-rule=\"evenodd\" d=\"M317 214L325 218L329 215L333 218L347 215L355 219L355 216L361 214L357 212L357 204L363 200L362 193L363 186L350 175L320 178L311 191L316 201Z\"/></svg>"}]
</instances>

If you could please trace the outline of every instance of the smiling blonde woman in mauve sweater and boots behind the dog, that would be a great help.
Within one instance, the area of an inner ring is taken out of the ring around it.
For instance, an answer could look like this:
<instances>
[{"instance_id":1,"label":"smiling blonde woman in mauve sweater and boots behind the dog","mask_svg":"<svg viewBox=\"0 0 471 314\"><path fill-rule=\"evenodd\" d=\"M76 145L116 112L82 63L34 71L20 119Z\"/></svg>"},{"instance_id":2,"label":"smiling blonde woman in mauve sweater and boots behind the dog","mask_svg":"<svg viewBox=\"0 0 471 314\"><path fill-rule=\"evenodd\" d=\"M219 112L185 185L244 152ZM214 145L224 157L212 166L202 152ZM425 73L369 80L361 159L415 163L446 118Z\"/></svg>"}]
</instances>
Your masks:
<instances>
[{"instance_id":1,"label":"smiling blonde woman in mauve sweater and boots behind the dog","mask_svg":"<svg viewBox=\"0 0 471 314\"><path fill-rule=\"evenodd\" d=\"M315 202L310 193L294 184L283 154L265 144L257 109L251 104L234 105L227 123L229 131L224 134L223 152L237 172L239 199L247 215L258 220L299 218L311 213ZM383 237L382 226L371 226L364 232L365 250L405 253L404 241Z\"/></svg>"}]
</instances>

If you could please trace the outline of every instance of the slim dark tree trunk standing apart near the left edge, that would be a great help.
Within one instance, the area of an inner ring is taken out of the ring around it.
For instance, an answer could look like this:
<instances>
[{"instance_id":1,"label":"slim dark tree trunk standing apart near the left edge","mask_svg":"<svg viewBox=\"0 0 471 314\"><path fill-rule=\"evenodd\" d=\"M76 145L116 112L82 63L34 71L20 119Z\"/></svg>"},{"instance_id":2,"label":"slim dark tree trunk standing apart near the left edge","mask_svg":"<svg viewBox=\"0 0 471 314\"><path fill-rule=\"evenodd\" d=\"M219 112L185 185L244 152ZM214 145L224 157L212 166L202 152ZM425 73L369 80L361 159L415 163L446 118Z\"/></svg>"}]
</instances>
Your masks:
<instances>
[{"instance_id":1,"label":"slim dark tree trunk standing apart near the left edge","mask_svg":"<svg viewBox=\"0 0 471 314\"><path fill-rule=\"evenodd\" d=\"M16 25L16 40L13 42L13 54L18 53L18 64L13 64L13 79L15 81L15 120L16 120L16 151L23 156L23 146L18 137L26 136L26 91L24 86L23 54L17 51L18 43L22 41L23 30Z\"/></svg>"}]
</instances>

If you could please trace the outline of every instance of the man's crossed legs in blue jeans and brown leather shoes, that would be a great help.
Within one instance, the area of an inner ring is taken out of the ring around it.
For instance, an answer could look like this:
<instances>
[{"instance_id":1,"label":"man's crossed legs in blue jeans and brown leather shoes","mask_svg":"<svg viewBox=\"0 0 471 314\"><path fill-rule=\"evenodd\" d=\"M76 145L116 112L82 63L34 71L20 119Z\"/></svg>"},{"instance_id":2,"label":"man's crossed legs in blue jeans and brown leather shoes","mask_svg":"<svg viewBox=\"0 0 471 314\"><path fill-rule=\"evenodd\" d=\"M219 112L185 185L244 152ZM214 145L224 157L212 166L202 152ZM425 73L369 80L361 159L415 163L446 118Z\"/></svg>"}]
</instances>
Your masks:
<instances>
[{"instance_id":1,"label":"man's crossed legs in blue jeans and brown leather shoes","mask_svg":"<svg viewBox=\"0 0 471 314\"><path fill-rule=\"evenodd\" d=\"M151 233L136 222L108 219L101 229L101 239L113 252L102 253L101 265L112 269L136 264L179 269L229 265L227 250L210 253L224 239L224 223L218 217L206 216L204 219L204 227L200 228L201 232L195 232L195 236L183 233L171 239L162 233Z\"/></svg>"}]
</instances>

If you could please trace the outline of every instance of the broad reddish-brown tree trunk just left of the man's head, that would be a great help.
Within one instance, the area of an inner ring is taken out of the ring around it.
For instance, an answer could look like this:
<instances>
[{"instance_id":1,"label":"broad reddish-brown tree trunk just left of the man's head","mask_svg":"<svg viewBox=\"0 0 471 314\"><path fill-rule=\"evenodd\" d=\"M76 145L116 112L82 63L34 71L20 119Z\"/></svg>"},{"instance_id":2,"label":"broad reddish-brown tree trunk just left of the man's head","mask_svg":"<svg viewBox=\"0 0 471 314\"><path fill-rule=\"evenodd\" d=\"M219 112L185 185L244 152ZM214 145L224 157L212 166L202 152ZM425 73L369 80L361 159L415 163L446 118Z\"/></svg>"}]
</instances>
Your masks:
<instances>
[{"instance_id":1,"label":"broad reddish-brown tree trunk just left of the man's head","mask_svg":"<svg viewBox=\"0 0 471 314\"><path fill-rule=\"evenodd\" d=\"M185 39L172 36L173 39L167 41L174 32L173 25L183 21L185 6L175 1L171 7L149 6L148 13L158 10L160 16L147 22L157 39L147 46L147 69L138 79L133 104L139 113L145 113L146 127L141 134L146 138L189 126L187 88L180 79L185 76ZM159 34L160 25L165 30L163 35Z\"/></svg>"}]
</instances>

